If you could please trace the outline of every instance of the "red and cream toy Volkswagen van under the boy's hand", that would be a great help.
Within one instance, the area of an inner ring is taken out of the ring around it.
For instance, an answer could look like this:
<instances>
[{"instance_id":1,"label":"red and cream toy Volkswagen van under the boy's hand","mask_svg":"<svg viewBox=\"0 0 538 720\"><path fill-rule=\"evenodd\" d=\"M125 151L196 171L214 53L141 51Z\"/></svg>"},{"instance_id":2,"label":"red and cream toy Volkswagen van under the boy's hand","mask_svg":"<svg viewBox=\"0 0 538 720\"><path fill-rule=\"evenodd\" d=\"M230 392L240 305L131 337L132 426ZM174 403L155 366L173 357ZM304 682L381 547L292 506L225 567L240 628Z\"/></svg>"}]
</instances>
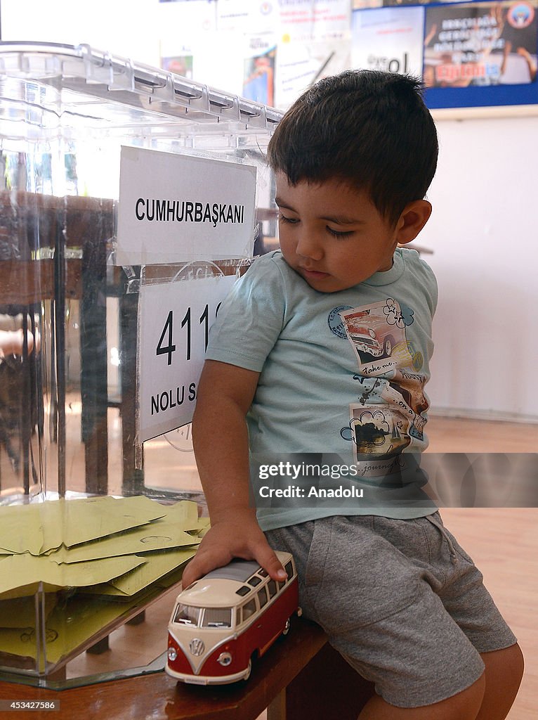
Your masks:
<instances>
[{"instance_id":1,"label":"red and cream toy Volkswagen van under the boy's hand","mask_svg":"<svg viewBox=\"0 0 538 720\"><path fill-rule=\"evenodd\" d=\"M234 559L178 595L168 624L168 675L196 685L247 680L252 658L288 634L291 616L301 614L293 557L276 554L285 582L257 562Z\"/></svg>"}]
</instances>

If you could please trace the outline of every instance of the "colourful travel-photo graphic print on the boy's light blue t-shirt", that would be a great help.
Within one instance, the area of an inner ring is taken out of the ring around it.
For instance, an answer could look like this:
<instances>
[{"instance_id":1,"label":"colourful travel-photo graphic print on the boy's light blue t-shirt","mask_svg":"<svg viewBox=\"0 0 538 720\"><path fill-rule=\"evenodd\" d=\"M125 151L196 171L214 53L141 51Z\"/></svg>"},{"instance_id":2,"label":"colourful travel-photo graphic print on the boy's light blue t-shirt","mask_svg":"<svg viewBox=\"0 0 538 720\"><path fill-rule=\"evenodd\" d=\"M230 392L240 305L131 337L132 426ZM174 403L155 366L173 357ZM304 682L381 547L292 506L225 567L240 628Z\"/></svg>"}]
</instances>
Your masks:
<instances>
[{"instance_id":1,"label":"colourful travel-photo graphic print on the boy's light blue t-shirt","mask_svg":"<svg viewBox=\"0 0 538 720\"><path fill-rule=\"evenodd\" d=\"M355 461L392 458L424 438L428 408L423 356L406 336L413 310L387 298L339 313L355 351L357 401L350 404L350 423L340 434L352 440Z\"/></svg>"}]
</instances>

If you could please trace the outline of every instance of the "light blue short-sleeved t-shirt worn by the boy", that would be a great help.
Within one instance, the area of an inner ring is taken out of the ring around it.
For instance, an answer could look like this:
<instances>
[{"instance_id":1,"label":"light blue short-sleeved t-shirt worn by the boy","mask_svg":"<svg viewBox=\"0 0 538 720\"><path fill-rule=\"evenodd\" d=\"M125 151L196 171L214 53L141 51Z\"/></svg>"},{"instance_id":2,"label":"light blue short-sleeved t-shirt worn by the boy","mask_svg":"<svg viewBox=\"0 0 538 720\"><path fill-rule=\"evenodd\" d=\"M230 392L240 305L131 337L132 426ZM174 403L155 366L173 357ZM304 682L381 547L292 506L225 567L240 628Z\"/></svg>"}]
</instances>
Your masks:
<instances>
[{"instance_id":1,"label":"light blue short-sleeved t-shirt worn by the boy","mask_svg":"<svg viewBox=\"0 0 538 720\"><path fill-rule=\"evenodd\" d=\"M234 285L206 358L260 373L247 425L263 530L334 514L432 513L415 454L427 446L436 305L432 270L400 248L390 270L339 292L311 288L280 251Z\"/></svg>"}]
</instances>

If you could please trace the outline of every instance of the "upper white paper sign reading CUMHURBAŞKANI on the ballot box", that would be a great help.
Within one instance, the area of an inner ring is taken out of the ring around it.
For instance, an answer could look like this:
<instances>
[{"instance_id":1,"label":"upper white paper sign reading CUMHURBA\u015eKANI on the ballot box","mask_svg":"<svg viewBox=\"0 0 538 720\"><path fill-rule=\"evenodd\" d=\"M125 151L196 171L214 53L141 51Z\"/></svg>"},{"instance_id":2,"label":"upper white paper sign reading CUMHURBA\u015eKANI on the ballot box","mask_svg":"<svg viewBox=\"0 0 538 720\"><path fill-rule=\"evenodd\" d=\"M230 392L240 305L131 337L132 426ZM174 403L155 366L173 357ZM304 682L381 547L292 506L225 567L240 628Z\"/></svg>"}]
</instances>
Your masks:
<instances>
[{"instance_id":1,"label":"upper white paper sign reading CUMHURBA\u015eKANI on the ballot box","mask_svg":"<svg viewBox=\"0 0 538 720\"><path fill-rule=\"evenodd\" d=\"M122 147L117 265L252 254L256 168Z\"/></svg>"}]
</instances>

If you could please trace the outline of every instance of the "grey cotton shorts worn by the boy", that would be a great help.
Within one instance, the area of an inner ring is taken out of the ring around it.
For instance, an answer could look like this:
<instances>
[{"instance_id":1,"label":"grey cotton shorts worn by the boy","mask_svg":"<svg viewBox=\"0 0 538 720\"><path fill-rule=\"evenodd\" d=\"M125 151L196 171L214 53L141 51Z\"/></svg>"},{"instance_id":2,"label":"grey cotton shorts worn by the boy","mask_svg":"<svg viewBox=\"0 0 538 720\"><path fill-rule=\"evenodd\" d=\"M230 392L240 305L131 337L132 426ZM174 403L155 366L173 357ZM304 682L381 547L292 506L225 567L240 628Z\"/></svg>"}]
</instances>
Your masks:
<instances>
[{"instance_id":1,"label":"grey cotton shorts worn by the boy","mask_svg":"<svg viewBox=\"0 0 538 720\"><path fill-rule=\"evenodd\" d=\"M482 574L439 513L393 520L332 516L265 533L293 553L304 615L388 703L437 703L513 645Z\"/></svg>"}]
</instances>

